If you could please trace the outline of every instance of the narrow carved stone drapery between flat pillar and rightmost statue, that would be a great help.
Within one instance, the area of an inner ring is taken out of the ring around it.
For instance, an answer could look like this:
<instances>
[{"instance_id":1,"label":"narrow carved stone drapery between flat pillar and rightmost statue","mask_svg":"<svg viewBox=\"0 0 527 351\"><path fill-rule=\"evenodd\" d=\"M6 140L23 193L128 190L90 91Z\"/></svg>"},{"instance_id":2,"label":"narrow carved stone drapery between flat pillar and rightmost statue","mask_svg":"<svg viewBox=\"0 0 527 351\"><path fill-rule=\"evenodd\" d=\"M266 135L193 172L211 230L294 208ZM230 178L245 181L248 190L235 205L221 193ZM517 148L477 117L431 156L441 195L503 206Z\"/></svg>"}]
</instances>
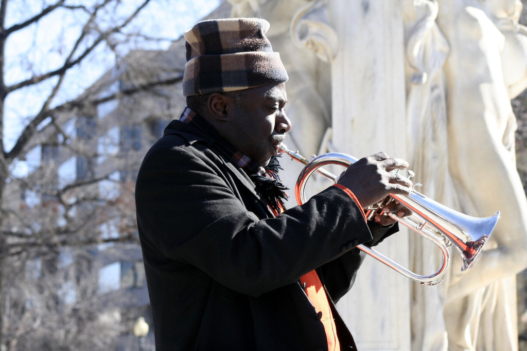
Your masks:
<instances>
[{"instance_id":1,"label":"narrow carved stone drapery between flat pillar and rightmost statue","mask_svg":"<svg viewBox=\"0 0 527 351\"><path fill-rule=\"evenodd\" d=\"M408 130L408 162L422 183L419 192L446 206L457 203L448 173L447 115L443 66L450 46L437 26L438 3L403 3L405 28L405 93ZM409 240L414 272L434 272L442 258L426 240ZM451 257L457 253L451 250ZM457 261L450 269L459 270ZM446 282L443 285L447 284ZM412 285L412 349L445 350L448 346L443 317L444 289ZM423 327L425 326L425 327Z\"/></svg>"}]
</instances>

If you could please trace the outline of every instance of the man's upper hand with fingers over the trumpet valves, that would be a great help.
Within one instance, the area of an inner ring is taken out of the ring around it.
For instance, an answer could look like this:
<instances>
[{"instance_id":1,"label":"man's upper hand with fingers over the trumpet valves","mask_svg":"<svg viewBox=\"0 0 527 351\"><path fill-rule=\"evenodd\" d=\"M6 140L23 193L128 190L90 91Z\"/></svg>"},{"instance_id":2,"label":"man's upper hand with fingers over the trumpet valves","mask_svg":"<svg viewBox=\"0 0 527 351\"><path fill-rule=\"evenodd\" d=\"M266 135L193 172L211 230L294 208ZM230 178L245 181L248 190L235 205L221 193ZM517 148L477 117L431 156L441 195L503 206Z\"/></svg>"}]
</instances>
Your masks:
<instances>
[{"instance_id":1,"label":"man's upper hand with fingers over the trumpet valves","mask_svg":"<svg viewBox=\"0 0 527 351\"><path fill-rule=\"evenodd\" d=\"M337 184L347 187L364 208L373 205L389 194L409 195L412 181L395 171L408 168L400 158L388 157L384 152L363 157L350 165Z\"/></svg>"}]
</instances>

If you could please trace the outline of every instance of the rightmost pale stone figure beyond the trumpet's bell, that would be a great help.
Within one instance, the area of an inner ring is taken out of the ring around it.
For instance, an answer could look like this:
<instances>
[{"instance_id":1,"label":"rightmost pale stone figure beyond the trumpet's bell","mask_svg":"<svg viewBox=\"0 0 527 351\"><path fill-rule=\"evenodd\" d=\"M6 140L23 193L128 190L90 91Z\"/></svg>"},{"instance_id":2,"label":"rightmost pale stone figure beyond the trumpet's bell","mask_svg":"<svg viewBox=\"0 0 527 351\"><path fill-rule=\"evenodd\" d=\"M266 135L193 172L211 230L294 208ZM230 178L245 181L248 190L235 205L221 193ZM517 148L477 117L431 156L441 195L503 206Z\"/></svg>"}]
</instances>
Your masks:
<instances>
[{"instance_id":1,"label":"rightmost pale stone figure beyond the trumpet's bell","mask_svg":"<svg viewBox=\"0 0 527 351\"><path fill-rule=\"evenodd\" d=\"M515 167L510 99L527 87L527 31L519 0L441 1L437 23L445 63L448 171L458 208L501 210L477 266L452 271L444 305L449 349L515 350L515 274L527 267L527 202Z\"/></svg>"}]
</instances>

